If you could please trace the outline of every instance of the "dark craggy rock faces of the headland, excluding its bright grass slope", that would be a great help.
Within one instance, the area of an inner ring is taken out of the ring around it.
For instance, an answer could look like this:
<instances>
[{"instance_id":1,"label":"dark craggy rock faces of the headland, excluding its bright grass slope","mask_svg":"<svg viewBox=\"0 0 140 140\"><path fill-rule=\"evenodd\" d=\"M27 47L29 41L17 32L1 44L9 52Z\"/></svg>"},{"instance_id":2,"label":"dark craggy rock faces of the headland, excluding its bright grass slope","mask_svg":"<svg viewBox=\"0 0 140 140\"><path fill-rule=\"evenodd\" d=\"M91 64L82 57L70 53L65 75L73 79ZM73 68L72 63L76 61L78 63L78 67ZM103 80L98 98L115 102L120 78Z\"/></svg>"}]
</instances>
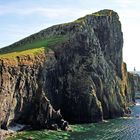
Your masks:
<instances>
[{"instance_id":1,"label":"dark craggy rock faces of the headland, excluding its bright grass slope","mask_svg":"<svg viewBox=\"0 0 140 140\"><path fill-rule=\"evenodd\" d=\"M1 59L1 128L13 122L64 128L62 118L70 123L89 123L128 112L128 103L134 100L122 60L118 14L102 10L45 29L7 48L56 36L66 41L53 45L51 54Z\"/></svg>"}]
</instances>

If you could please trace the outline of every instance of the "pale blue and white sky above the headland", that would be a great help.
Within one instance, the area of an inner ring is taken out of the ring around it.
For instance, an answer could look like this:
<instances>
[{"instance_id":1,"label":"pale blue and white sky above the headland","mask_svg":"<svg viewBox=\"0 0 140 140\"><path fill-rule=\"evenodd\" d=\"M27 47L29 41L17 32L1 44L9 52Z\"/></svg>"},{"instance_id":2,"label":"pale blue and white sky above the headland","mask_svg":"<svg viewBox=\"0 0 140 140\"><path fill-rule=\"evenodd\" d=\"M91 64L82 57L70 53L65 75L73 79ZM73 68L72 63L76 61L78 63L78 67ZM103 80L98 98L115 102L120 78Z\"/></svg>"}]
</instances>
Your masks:
<instances>
[{"instance_id":1,"label":"pale blue and white sky above the headland","mask_svg":"<svg viewBox=\"0 0 140 140\"><path fill-rule=\"evenodd\" d=\"M101 9L119 14L123 60L129 71L140 71L140 0L0 0L0 48Z\"/></svg>"}]
</instances>

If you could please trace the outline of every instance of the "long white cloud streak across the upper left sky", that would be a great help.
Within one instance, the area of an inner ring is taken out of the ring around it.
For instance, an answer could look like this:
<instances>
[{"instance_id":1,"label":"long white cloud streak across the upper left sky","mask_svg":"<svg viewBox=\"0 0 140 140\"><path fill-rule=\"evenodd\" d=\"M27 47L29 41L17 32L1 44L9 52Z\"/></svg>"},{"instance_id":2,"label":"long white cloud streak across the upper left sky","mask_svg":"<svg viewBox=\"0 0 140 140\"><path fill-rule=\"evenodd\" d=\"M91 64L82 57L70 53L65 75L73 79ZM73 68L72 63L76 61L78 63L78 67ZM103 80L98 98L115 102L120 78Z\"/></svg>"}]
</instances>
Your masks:
<instances>
[{"instance_id":1,"label":"long white cloud streak across the upper left sky","mask_svg":"<svg viewBox=\"0 0 140 140\"><path fill-rule=\"evenodd\" d=\"M17 16L31 16L40 15L48 17L49 19L69 17L79 17L91 12L91 10L63 8L63 7L45 7L45 6L32 6L21 7L19 5L0 5L0 16L13 14Z\"/></svg>"}]
</instances>

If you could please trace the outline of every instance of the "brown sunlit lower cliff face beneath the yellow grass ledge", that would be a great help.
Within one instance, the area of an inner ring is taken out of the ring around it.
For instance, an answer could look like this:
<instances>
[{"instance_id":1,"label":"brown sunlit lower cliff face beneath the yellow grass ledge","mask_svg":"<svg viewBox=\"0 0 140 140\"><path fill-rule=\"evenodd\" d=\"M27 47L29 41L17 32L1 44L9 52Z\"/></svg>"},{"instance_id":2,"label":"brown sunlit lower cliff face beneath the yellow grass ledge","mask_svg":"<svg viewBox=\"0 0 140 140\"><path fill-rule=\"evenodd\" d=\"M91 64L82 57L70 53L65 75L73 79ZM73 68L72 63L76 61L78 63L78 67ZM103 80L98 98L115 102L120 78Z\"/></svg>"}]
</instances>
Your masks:
<instances>
[{"instance_id":1,"label":"brown sunlit lower cliff face beneath the yellow grass ledge","mask_svg":"<svg viewBox=\"0 0 140 140\"><path fill-rule=\"evenodd\" d=\"M24 57L24 61L13 61L14 66L11 66L11 60L7 63L6 60L1 61L1 128L6 129L13 121L30 124L34 128L44 128L46 124L49 127L50 121L56 123L62 119L43 91L45 59L46 56L42 54L34 60Z\"/></svg>"}]
</instances>

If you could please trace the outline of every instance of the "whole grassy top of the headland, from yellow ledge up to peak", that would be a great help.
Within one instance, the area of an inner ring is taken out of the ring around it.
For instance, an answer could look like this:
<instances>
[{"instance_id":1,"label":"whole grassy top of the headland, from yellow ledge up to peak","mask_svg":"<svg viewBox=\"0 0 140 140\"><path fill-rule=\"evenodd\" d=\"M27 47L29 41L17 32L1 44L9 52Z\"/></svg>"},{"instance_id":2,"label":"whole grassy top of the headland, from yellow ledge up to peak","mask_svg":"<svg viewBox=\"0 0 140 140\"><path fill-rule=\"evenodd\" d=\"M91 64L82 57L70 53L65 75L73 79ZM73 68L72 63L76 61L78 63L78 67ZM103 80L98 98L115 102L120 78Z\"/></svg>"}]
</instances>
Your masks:
<instances>
[{"instance_id":1,"label":"whole grassy top of the headland, from yellow ledge up to peak","mask_svg":"<svg viewBox=\"0 0 140 140\"><path fill-rule=\"evenodd\" d=\"M15 58L23 55L34 56L40 52L49 52L53 46L66 42L68 40L68 35L70 37L71 32L77 32L74 28L80 27L80 24L82 24L83 21L86 21L89 16L99 17L114 15L117 15L117 13L112 10L101 10L79 18L74 22L52 26L0 49L0 59Z\"/></svg>"}]
</instances>

